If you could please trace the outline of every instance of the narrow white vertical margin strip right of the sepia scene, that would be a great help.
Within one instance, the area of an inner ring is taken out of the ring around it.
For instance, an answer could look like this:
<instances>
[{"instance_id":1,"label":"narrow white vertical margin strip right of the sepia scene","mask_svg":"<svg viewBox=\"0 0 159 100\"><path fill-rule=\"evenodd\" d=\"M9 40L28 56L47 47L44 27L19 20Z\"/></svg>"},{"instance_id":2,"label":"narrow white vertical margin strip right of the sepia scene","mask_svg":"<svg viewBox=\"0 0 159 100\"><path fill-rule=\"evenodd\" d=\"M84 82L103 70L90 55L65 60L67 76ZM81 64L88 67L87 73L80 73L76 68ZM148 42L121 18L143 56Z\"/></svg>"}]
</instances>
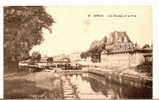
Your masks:
<instances>
[{"instance_id":1,"label":"narrow white vertical margin strip right of the sepia scene","mask_svg":"<svg viewBox=\"0 0 159 100\"><path fill-rule=\"evenodd\" d=\"M159 99L159 6L157 4L153 5L153 15L153 98Z\"/></svg>"}]
</instances>

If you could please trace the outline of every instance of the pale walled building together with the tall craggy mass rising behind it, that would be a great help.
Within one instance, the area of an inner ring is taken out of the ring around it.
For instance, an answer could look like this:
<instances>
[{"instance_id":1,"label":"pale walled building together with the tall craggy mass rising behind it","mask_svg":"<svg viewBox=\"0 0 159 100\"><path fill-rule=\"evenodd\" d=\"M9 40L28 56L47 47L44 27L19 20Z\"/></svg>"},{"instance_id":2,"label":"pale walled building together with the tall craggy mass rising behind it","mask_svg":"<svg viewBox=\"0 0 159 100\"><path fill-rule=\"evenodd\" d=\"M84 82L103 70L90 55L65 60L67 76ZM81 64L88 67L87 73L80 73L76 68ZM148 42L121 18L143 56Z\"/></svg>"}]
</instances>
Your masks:
<instances>
[{"instance_id":1,"label":"pale walled building together with the tall craggy mass rising behind it","mask_svg":"<svg viewBox=\"0 0 159 100\"><path fill-rule=\"evenodd\" d=\"M140 48L131 42L126 32L112 32L101 52L105 66L135 67L152 63L152 47Z\"/></svg>"}]
</instances>

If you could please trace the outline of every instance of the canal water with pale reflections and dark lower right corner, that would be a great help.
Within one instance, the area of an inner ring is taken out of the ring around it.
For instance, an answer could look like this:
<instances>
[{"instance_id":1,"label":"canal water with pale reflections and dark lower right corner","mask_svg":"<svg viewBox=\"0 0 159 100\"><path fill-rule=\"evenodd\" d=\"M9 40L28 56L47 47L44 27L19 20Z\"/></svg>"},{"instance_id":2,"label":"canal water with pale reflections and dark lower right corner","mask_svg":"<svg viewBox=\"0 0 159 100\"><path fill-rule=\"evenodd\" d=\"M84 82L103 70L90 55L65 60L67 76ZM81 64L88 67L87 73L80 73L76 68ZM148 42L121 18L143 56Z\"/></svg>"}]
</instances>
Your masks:
<instances>
[{"instance_id":1,"label":"canal water with pale reflections and dark lower right corner","mask_svg":"<svg viewBox=\"0 0 159 100\"><path fill-rule=\"evenodd\" d=\"M122 86L90 73L63 75L64 99L144 99L152 98L152 88Z\"/></svg>"}]
</instances>

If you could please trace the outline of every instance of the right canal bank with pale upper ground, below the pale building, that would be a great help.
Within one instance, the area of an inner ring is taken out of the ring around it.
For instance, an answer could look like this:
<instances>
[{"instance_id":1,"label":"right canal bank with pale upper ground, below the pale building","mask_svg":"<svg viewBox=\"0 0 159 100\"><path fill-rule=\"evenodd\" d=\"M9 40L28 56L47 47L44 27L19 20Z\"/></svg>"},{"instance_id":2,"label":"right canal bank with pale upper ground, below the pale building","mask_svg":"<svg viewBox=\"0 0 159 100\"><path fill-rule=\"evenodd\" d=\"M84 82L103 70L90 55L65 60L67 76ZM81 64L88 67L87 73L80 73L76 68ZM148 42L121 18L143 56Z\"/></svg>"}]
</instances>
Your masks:
<instances>
[{"instance_id":1,"label":"right canal bank with pale upper ground, below the pale building","mask_svg":"<svg viewBox=\"0 0 159 100\"><path fill-rule=\"evenodd\" d=\"M136 67L104 66L100 63L87 63L87 72L103 76L106 80L134 87L152 88L152 76L136 71Z\"/></svg>"}]
</instances>

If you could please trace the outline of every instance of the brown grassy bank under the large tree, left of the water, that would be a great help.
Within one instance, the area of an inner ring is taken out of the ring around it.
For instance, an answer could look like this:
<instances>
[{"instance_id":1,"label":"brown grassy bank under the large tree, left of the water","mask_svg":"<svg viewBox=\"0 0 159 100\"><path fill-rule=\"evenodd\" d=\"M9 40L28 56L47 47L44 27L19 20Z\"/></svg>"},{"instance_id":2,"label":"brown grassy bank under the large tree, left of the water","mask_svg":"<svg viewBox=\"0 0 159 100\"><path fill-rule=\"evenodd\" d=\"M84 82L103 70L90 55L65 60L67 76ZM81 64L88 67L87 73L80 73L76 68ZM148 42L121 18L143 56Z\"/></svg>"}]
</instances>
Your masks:
<instances>
[{"instance_id":1,"label":"brown grassy bank under the large tree, left of the water","mask_svg":"<svg viewBox=\"0 0 159 100\"><path fill-rule=\"evenodd\" d=\"M63 99L60 74L14 72L4 75L5 99Z\"/></svg>"}]
</instances>

